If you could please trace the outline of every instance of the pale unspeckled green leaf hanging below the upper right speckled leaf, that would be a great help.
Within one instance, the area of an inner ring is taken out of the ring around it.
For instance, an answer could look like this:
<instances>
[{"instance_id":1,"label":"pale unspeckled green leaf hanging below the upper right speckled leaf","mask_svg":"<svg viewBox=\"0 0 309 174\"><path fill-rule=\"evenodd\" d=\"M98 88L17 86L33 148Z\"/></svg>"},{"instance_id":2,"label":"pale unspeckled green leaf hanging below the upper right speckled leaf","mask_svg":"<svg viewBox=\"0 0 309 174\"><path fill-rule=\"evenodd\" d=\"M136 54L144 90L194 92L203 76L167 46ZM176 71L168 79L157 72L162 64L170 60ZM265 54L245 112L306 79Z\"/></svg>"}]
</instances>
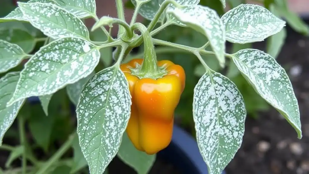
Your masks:
<instances>
[{"instance_id":1,"label":"pale unspeckled green leaf hanging below the upper right speckled leaf","mask_svg":"<svg viewBox=\"0 0 309 174\"><path fill-rule=\"evenodd\" d=\"M267 40L266 52L274 59L277 59L277 56L280 53L282 46L284 45L285 39L286 29L283 28L279 33L269 37Z\"/></svg>"}]
</instances>

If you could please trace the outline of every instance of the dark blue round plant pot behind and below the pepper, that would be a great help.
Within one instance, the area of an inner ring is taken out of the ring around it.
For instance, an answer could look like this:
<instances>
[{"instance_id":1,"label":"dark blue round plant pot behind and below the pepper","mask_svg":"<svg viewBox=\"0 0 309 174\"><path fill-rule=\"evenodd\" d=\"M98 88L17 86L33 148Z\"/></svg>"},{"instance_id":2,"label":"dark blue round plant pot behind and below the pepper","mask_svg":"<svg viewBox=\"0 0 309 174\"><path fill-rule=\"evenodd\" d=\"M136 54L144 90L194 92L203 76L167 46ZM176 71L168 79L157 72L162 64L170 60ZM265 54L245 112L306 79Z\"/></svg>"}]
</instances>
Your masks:
<instances>
[{"instance_id":1,"label":"dark blue round plant pot behind and below the pepper","mask_svg":"<svg viewBox=\"0 0 309 174\"><path fill-rule=\"evenodd\" d=\"M39 103L38 97L28 98L30 103ZM72 106L75 111L75 107ZM207 165L201 156L195 139L184 129L174 124L172 141L157 157L173 164L182 173L208 174ZM222 174L226 174L224 171Z\"/></svg>"}]
</instances>

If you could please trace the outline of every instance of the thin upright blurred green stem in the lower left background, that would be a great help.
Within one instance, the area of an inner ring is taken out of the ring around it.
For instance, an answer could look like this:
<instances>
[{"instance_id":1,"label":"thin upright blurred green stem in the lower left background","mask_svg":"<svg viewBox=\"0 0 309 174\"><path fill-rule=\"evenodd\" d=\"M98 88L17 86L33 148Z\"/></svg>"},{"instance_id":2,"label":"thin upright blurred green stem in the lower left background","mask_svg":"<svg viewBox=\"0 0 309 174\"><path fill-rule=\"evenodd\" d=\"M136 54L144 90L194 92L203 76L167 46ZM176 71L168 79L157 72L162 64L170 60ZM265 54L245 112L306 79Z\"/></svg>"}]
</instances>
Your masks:
<instances>
[{"instance_id":1,"label":"thin upright blurred green stem in the lower left background","mask_svg":"<svg viewBox=\"0 0 309 174\"><path fill-rule=\"evenodd\" d=\"M26 169L27 169L27 143L26 143L26 135L25 135L25 120L23 118L23 115L21 115L18 119L18 127L19 127L20 144L23 146L22 173L26 174Z\"/></svg>"}]
</instances>

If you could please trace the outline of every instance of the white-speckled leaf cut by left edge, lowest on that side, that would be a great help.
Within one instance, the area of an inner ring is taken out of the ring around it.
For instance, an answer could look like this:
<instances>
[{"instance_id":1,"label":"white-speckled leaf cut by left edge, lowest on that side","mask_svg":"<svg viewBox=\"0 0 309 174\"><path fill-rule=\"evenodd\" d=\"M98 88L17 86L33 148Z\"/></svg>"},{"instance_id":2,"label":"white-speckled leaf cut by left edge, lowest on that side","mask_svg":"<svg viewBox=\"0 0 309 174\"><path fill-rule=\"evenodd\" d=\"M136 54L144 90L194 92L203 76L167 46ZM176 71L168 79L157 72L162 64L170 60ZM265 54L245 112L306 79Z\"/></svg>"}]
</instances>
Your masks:
<instances>
[{"instance_id":1,"label":"white-speckled leaf cut by left edge, lowest on that side","mask_svg":"<svg viewBox=\"0 0 309 174\"><path fill-rule=\"evenodd\" d=\"M19 72L7 73L0 79L0 146L6 131L13 124L19 109L23 106L24 99L13 103L11 106L6 107L6 103L12 97L17 81L19 79Z\"/></svg>"}]
</instances>

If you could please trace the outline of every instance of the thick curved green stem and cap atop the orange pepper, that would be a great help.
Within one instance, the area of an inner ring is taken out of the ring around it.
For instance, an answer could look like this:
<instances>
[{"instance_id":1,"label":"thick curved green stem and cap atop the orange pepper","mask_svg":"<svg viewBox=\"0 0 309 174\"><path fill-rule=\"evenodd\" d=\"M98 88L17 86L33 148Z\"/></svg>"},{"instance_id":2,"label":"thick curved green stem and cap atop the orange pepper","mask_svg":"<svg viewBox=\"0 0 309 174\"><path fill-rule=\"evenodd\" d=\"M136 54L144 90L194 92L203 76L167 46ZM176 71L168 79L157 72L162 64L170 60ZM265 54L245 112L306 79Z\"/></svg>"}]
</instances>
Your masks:
<instances>
[{"instance_id":1,"label":"thick curved green stem and cap atop the orange pepper","mask_svg":"<svg viewBox=\"0 0 309 174\"><path fill-rule=\"evenodd\" d=\"M142 67L138 70L138 72L133 72L133 74L139 76L140 78L146 77L157 79L162 77L165 72L163 72L157 65L155 46L152 43L151 36L147 28L141 23L135 23L133 24L132 29L138 29L142 33L145 46Z\"/></svg>"}]
</instances>

